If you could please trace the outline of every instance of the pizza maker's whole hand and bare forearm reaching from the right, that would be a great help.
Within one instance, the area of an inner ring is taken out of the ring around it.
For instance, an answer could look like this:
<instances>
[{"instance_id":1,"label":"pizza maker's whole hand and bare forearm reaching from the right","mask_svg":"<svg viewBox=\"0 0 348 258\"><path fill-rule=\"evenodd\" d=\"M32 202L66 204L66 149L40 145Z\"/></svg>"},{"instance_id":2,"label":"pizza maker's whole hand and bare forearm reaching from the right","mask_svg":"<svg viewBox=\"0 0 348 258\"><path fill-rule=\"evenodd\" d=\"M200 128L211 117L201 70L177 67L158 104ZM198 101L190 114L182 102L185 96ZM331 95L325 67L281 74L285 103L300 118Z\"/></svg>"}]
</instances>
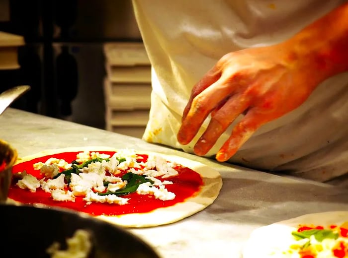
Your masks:
<instances>
[{"instance_id":1,"label":"pizza maker's whole hand and bare forearm reaching from the right","mask_svg":"<svg viewBox=\"0 0 348 258\"><path fill-rule=\"evenodd\" d=\"M207 129L194 146L197 155L204 155L244 114L216 154L218 161L226 161L262 125L300 106L321 81L347 70L347 6L288 41L222 57L194 85L177 134L179 143L188 144L210 115ZM323 43L322 35L330 35L330 40Z\"/></svg>"}]
</instances>

